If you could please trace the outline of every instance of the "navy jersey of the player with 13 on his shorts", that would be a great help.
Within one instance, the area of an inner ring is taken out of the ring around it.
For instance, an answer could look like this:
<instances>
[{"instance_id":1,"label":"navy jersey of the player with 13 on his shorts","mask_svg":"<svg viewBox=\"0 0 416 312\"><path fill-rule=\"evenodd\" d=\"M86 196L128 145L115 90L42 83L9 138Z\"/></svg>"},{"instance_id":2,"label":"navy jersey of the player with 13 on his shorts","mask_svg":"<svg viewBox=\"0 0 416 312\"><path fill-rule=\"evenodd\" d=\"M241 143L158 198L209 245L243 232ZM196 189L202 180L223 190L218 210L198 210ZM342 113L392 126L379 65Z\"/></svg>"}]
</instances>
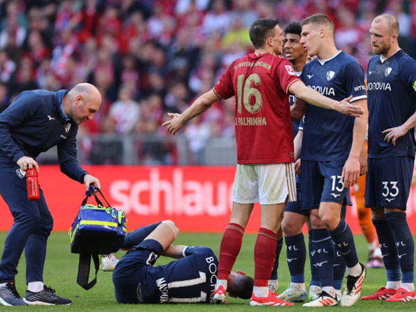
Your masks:
<instances>
[{"instance_id":1,"label":"navy jersey of the player with 13 on his shorts","mask_svg":"<svg viewBox=\"0 0 416 312\"><path fill-rule=\"evenodd\" d=\"M305 64L300 78L307 87L335 101L350 95L352 102L367 98L362 67L343 51L329 60L315 59ZM347 160L352 146L354 117L314 105L307 105L307 116L302 160Z\"/></svg>"}]
</instances>

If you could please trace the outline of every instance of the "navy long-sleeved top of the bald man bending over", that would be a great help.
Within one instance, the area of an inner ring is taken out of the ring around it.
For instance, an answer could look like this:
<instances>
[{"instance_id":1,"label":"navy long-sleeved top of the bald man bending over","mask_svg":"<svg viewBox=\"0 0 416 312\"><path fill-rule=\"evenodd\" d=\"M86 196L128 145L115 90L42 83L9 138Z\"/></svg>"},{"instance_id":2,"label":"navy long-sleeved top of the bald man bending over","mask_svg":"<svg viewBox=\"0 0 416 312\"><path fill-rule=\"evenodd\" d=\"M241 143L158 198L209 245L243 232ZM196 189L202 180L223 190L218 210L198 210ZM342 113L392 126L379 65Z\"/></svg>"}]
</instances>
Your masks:
<instances>
[{"instance_id":1,"label":"navy long-sleeved top of the bald man bending over","mask_svg":"<svg viewBox=\"0 0 416 312\"><path fill-rule=\"evenodd\" d=\"M0 166L14 166L21 157L36 159L42 152L58 146L62 173L83 183L87 171L76 158L78 125L62 110L69 90L21 92L0 114Z\"/></svg>"}]
</instances>

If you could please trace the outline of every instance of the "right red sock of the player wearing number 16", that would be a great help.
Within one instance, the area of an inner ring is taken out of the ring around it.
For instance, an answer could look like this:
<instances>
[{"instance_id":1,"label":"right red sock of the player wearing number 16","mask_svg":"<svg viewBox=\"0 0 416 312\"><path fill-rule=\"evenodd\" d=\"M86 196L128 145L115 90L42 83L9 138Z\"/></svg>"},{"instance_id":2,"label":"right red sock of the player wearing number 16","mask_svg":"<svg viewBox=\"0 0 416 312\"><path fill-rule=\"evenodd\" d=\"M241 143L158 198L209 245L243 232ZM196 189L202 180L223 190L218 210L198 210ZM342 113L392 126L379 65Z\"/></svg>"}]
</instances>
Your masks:
<instances>
[{"instance_id":1,"label":"right red sock of the player wearing number 16","mask_svg":"<svg viewBox=\"0 0 416 312\"><path fill-rule=\"evenodd\" d=\"M267 287L276 257L277 234L259 228L256 245L254 245L254 286Z\"/></svg>"}]
</instances>

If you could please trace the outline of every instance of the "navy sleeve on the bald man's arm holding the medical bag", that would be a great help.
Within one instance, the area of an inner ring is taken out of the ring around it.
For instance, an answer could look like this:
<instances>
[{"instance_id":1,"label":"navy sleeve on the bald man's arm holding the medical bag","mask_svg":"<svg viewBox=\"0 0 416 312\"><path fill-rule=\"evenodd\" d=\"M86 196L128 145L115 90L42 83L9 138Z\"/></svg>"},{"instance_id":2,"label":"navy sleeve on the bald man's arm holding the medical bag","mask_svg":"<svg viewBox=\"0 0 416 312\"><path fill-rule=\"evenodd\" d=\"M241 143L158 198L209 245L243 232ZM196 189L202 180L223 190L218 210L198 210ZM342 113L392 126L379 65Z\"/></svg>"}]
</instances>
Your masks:
<instances>
[{"instance_id":1,"label":"navy sleeve on the bald man's arm holding the medical bag","mask_svg":"<svg viewBox=\"0 0 416 312\"><path fill-rule=\"evenodd\" d=\"M73 129L69 137L58 144L58 160L60 164L60 170L62 173L70 177L72 180L76 180L80 183L84 182L84 175L88 174L78 164L76 158L76 132L78 127Z\"/></svg>"}]
</instances>

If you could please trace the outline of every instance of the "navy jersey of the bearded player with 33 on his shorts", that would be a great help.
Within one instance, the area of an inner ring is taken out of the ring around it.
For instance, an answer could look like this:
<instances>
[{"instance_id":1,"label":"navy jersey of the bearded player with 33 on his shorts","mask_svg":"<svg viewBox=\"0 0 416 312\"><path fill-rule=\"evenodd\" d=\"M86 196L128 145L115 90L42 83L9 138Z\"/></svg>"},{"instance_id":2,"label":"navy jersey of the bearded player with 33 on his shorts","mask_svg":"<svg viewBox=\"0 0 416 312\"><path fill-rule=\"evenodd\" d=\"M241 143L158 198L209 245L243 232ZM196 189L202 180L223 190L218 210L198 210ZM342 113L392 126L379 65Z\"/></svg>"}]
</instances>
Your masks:
<instances>
[{"instance_id":1,"label":"navy jersey of the bearded player with 33 on his shorts","mask_svg":"<svg viewBox=\"0 0 416 312\"><path fill-rule=\"evenodd\" d=\"M399 50L381 62L368 62L368 157L415 157L415 130L396 141L384 141L383 131L402 125L416 111L416 61Z\"/></svg>"}]
</instances>

